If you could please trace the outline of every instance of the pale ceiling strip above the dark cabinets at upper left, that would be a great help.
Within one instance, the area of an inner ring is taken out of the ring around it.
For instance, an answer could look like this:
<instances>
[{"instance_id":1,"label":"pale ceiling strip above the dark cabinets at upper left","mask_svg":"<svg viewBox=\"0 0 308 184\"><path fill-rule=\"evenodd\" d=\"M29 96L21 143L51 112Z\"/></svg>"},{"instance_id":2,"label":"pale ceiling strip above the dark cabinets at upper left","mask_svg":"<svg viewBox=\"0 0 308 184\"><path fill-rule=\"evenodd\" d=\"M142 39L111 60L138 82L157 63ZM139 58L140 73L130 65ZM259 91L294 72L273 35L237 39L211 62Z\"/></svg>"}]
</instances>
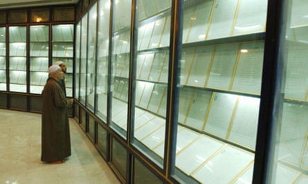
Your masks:
<instances>
[{"instance_id":1,"label":"pale ceiling strip above the dark cabinets at upper left","mask_svg":"<svg viewBox=\"0 0 308 184\"><path fill-rule=\"evenodd\" d=\"M0 0L0 10L77 3L79 0Z\"/></svg>"}]
</instances>

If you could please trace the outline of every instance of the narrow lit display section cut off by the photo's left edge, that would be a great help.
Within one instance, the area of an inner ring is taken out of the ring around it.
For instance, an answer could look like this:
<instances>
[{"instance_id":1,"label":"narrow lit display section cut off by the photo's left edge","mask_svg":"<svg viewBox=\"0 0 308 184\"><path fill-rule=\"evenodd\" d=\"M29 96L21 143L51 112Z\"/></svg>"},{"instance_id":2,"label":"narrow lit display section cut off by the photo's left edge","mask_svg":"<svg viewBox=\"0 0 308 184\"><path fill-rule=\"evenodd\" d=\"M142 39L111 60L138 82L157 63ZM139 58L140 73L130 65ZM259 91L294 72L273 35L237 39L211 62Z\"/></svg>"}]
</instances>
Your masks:
<instances>
[{"instance_id":1,"label":"narrow lit display section cut off by the photo's left edge","mask_svg":"<svg viewBox=\"0 0 308 184\"><path fill-rule=\"evenodd\" d=\"M0 27L0 91L6 91L6 27Z\"/></svg>"}]
</instances>

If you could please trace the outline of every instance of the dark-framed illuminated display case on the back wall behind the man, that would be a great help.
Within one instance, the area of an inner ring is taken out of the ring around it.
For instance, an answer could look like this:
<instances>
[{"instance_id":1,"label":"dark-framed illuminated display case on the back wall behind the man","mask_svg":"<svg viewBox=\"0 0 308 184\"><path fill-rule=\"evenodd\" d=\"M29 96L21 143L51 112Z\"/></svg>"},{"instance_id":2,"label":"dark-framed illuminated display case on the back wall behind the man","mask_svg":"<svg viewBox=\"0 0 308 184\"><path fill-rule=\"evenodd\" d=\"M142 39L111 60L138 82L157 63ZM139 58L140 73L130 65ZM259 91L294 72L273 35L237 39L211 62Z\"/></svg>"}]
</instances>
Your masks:
<instances>
[{"instance_id":1,"label":"dark-framed illuminated display case on the back wall behind the man","mask_svg":"<svg viewBox=\"0 0 308 184\"><path fill-rule=\"evenodd\" d=\"M41 112L48 67L67 65L66 91L73 97L75 7L20 7L1 11L1 107Z\"/></svg>"}]
</instances>

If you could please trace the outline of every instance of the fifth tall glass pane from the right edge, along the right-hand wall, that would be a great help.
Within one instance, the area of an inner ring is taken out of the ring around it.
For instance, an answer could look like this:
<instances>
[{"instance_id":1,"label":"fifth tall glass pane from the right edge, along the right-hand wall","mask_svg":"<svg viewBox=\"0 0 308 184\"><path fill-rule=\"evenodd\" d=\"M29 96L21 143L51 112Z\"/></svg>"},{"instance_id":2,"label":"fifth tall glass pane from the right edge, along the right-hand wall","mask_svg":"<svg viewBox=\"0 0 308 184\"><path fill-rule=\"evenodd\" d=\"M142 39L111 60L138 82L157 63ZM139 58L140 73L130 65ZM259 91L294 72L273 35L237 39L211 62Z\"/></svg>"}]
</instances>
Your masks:
<instances>
[{"instance_id":1,"label":"fifth tall glass pane from the right edge, along the right-hand wall","mask_svg":"<svg viewBox=\"0 0 308 184\"><path fill-rule=\"evenodd\" d=\"M107 122L107 87L108 87L108 56L109 56L109 11L108 0L98 3L98 68L96 69L96 96L98 98L98 116Z\"/></svg>"}]
</instances>

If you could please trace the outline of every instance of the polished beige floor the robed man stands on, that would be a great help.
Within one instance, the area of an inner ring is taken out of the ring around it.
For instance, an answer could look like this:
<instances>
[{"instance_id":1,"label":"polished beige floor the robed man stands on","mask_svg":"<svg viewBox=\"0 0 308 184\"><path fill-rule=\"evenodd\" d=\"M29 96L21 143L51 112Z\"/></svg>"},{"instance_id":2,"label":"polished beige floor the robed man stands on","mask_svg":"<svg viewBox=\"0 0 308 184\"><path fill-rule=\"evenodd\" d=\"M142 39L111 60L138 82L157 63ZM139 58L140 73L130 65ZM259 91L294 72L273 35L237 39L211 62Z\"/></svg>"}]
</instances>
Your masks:
<instances>
[{"instance_id":1,"label":"polished beige floor the robed man stands on","mask_svg":"<svg viewBox=\"0 0 308 184\"><path fill-rule=\"evenodd\" d=\"M74 119L70 128L69 160L42 163L41 114L0 109L0 184L120 183Z\"/></svg>"}]
</instances>

